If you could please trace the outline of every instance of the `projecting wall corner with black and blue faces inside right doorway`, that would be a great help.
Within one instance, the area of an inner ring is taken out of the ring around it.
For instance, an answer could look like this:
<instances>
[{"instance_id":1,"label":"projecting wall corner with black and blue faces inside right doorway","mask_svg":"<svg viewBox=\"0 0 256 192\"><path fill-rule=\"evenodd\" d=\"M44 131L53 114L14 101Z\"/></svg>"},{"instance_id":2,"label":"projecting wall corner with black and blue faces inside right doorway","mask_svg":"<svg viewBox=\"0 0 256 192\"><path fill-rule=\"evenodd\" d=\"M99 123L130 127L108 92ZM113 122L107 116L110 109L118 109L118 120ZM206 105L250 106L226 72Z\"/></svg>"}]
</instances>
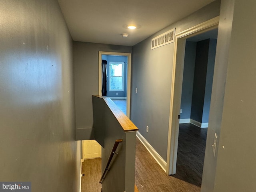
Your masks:
<instances>
[{"instance_id":1,"label":"projecting wall corner with black and blue faces inside right doorway","mask_svg":"<svg viewBox=\"0 0 256 192\"><path fill-rule=\"evenodd\" d=\"M215 54L216 40L197 42L190 118L201 123L209 119Z\"/></svg>"}]
</instances>

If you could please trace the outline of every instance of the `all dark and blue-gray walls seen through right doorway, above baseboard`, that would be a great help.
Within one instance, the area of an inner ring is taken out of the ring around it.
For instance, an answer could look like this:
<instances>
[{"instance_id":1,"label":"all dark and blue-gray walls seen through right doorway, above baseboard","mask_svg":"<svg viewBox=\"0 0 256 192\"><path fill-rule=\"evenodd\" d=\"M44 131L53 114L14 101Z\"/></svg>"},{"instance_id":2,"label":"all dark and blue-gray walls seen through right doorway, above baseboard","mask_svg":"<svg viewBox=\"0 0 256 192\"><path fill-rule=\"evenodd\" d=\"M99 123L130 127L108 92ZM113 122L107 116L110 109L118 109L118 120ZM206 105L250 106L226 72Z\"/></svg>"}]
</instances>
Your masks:
<instances>
[{"instance_id":1,"label":"all dark and blue-gray walls seen through right doorway, above baseboard","mask_svg":"<svg viewBox=\"0 0 256 192\"><path fill-rule=\"evenodd\" d=\"M201 123L208 123L216 42L215 39L203 40L198 44L186 42L180 119L191 118Z\"/></svg>"}]
</instances>

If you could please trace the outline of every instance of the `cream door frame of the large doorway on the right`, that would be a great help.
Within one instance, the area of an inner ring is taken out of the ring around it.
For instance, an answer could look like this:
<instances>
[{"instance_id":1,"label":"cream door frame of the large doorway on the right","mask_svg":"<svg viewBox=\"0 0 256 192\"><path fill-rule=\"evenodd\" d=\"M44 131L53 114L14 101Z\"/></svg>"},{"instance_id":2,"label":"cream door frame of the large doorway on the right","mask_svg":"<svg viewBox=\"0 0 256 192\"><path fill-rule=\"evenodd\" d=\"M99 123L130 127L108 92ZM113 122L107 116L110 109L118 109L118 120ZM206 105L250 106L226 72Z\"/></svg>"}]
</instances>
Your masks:
<instances>
[{"instance_id":1,"label":"cream door frame of the large doorway on the right","mask_svg":"<svg viewBox=\"0 0 256 192\"><path fill-rule=\"evenodd\" d=\"M209 30L218 28L219 16L175 34L174 40L174 58L172 66L172 88L170 98L170 117L167 146L166 174L176 173L180 103L182 94L182 80L184 68L184 56L186 39Z\"/></svg>"}]
</instances>

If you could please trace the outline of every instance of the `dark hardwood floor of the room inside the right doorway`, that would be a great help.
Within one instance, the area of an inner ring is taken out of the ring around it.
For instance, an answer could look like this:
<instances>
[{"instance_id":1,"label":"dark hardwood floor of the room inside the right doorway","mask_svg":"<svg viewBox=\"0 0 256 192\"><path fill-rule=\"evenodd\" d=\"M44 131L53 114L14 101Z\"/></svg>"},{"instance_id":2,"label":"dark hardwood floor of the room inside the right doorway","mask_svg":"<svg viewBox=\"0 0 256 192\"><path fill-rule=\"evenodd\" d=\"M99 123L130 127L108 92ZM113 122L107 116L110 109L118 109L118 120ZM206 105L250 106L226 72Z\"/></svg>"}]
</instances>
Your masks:
<instances>
[{"instance_id":1,"label":"dark hardwood floor of the room inside the right doorway","mask_svg":"<svg viewBox=\"0 0 256 192\"><path fill-rule=\"evenodd\" d=\"M173 177L201 186L207 128L180 124L177 169Z\"/></svg>"}]
</instances>

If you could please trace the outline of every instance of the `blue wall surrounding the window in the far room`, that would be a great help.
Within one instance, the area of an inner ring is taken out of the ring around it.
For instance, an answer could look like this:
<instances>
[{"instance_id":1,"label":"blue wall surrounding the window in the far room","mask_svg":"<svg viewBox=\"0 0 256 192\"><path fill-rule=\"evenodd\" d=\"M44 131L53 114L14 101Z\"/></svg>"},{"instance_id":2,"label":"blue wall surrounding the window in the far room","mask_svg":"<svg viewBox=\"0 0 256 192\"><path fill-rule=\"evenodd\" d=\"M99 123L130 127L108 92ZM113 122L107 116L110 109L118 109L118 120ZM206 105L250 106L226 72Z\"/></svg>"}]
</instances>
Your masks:
<instances>
[{"instance_id":1,"label":"blue wall surrounding the window in the far room","mask_svg":"<svg viewBox=\"0 0 256 192\"><path fill-rule=\"evenodd\" d=\"M105 55L103 55L105 56ZM109 62L124 62L124 91L109 91L109 78L107 80L107 97L126 97L126 89L127 89L127 56L111 56L107 55L106 60L108 62L108 77L109 77ZM118 93L118 95L116 95Z\"/></svg>"}]
</instances>

